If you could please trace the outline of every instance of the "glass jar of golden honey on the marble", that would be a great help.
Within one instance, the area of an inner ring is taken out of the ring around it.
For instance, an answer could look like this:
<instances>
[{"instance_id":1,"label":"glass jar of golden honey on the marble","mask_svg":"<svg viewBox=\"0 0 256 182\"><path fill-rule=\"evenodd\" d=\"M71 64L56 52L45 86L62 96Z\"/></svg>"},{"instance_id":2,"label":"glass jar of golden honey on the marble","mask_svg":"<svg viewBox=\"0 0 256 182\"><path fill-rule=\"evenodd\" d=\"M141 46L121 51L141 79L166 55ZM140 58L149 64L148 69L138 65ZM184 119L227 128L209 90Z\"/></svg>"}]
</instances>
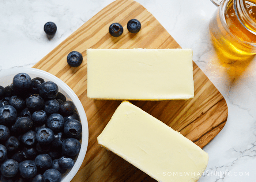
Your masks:
<instances>
[{"instance_id":1,"label":"glass jar of golden honey on the marble","mask_svg":"<svg viewBox=\"0 0 256 182\"><path fill-rule=\"evenodd\" d=\"M227 0L210 20L217 53L230 62L256 54L256 0Z\"/></svg>"}]
</instances>

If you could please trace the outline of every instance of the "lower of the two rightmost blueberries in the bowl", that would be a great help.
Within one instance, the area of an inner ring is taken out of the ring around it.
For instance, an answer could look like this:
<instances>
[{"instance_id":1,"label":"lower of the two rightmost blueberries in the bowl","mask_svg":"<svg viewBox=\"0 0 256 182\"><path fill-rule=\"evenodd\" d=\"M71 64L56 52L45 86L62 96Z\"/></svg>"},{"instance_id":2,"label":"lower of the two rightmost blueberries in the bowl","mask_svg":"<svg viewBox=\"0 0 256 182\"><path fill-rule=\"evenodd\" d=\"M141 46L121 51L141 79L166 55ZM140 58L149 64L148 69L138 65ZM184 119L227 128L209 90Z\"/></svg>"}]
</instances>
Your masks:
<instances>
[{"instance_id":1,"label":"lower of the two rightmost blueberries in the bowl","mask_svg":"<svg viewBox=\"0 0 256 182\"><path fill-rule=\"evenodd\" d=\"M62 143L62 151L68 157L73 157L77 155L80 149L81 149L81 144L75 138L67 138Z\"/></svg>"}]
</instances>

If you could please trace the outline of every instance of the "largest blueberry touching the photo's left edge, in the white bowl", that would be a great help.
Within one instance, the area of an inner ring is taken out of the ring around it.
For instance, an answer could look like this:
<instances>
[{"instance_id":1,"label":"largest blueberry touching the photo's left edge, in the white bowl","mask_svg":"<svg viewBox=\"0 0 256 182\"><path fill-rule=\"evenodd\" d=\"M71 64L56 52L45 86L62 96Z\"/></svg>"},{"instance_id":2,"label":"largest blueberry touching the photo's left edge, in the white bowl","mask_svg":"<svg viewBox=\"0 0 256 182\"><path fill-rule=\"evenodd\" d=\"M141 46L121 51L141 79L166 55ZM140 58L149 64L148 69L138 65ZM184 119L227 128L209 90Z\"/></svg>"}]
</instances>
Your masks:
<instances>
[{"instance_id":1,"label":"largest blueberry touching the photo's left edge, in the white bowl","mask_svg":"<svg viewBox=\"0 0 256 182\"><path fill-rule=\"evenodd\" d=\"M11 125L17 118L17 111L11 105L0 107L0 124Z\"/></svg>"}]
</instances>

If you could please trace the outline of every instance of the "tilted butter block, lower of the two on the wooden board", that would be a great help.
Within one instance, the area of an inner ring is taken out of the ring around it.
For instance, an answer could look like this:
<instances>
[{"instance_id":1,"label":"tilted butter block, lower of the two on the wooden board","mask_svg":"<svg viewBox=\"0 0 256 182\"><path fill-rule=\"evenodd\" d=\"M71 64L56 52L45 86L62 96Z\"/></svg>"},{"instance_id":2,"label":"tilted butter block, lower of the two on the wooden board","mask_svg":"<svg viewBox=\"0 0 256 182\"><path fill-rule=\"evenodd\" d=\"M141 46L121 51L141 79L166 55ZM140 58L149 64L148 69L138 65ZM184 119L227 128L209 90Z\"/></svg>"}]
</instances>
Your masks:
<instances>
[{"instance_id":1,"label":"tilted butter block, lower of the two on the wooden board","mask_svg":"<svg viewBox=\"0 0 256 182\"><path fill-rule=\"evenodd\" d=\"M123 101L98 143L159 182L196 182L208 154L165 123Z\"/></svg>"}]
</instances>

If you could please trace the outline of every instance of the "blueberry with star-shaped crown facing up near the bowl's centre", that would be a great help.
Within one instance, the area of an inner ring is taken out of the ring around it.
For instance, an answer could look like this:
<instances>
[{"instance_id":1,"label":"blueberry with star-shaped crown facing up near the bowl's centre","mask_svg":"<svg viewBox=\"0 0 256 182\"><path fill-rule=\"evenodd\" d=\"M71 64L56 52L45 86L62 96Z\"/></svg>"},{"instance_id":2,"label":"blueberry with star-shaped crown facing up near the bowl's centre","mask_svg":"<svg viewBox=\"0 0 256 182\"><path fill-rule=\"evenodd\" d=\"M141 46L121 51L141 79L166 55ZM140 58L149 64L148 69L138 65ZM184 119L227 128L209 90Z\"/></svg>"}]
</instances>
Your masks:
<instances>
[{"instance_id":1,"label":"blueberry with star-shaped crown facing up near the bowl's centre","mask_svg":"<svg viewBox=\"0 0 256 182\"><path fill-rule=\"evenodd\" d=\"M54 133L50 128L41 128L37 131L35 138L40 144L49 144L54 140Z\"/></svg>"}]
</instances>

